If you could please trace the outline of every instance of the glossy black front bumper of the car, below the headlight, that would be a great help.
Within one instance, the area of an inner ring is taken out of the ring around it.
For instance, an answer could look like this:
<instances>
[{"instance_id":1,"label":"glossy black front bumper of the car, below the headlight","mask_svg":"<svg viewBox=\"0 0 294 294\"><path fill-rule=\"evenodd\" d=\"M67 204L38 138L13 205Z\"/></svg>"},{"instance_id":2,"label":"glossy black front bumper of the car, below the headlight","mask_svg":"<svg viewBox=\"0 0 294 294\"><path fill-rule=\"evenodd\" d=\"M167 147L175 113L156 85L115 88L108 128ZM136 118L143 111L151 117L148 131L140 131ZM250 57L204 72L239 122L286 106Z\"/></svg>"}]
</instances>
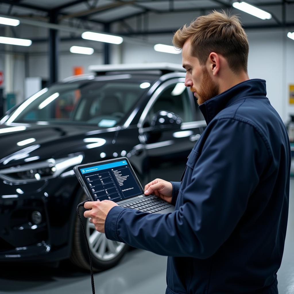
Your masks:
<instances>
[{"instance_id":1,"label":"glossy black front bumper of the car, below the headlight","mask_svg":"<svg viewBox=\"0 0 294 294\"><path fill-rule=\"evenodd\" d=\"M76 184L75 178L18 185L1 181L0 261L69 257ZM41 214L40 223L34 223L34 211Z\"/></svg>"}]
</instances>

